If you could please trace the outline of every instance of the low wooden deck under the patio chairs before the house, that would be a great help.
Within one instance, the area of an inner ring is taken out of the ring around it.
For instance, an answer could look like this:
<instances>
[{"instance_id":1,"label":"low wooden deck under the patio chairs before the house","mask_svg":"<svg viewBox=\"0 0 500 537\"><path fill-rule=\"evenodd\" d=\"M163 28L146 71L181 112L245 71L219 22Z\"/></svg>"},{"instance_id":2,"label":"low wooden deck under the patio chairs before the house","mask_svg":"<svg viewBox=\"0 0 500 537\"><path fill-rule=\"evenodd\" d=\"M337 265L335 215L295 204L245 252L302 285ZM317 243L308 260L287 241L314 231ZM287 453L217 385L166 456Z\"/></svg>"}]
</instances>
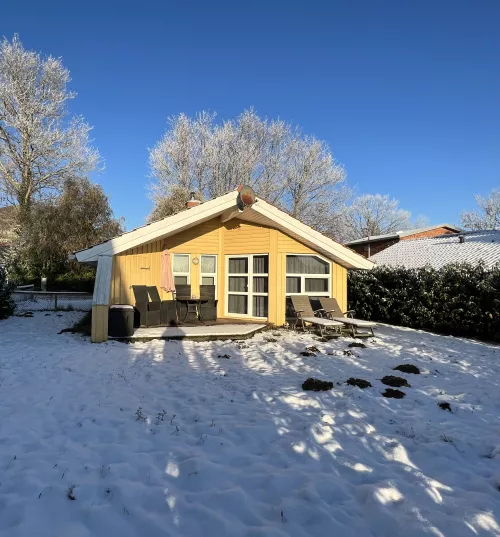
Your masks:
<instances>
[{"instance_id":1,"label":"low wooden deck under the patio chairs before the house","mask_svg":"<svg viewBox=\"0 0 500 537\"><path fill-rule=\"evenodd\" d=\"M153 339L193 339L198 341L247 339L256 332L266 328L265 324L254 323L217 323L202 325L200 323L185 326L158 326L154 328L137 328L133 336L112 338L119 341L151 341Z\"/></svg>"}]
</instances>

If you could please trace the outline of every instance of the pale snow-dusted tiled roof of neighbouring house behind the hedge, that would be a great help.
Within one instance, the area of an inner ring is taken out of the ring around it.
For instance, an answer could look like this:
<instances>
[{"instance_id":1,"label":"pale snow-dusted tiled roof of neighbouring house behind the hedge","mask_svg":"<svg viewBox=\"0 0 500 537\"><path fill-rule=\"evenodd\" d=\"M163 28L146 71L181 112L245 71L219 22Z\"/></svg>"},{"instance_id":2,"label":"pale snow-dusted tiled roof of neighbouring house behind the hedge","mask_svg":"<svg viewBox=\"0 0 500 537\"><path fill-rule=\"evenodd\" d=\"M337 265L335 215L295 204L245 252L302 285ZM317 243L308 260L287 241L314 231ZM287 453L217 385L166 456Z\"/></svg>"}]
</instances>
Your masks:
<instances>
[{"instance_id":1,"label":"pale snow-dusted tiled roof of neighbouring house behind the hedge","mask_svg":"<svg viewBox=\"0 0 500 537\"><path fill-rule=\"evenodd\" d=\"M464 242L460 242L460 237ZM450 263L478 263L487 267L500 263L500 230L469 231L459 235L440 235L400 241L370 257L378 265L441 268Z\"/></svg>"}]
</instances>

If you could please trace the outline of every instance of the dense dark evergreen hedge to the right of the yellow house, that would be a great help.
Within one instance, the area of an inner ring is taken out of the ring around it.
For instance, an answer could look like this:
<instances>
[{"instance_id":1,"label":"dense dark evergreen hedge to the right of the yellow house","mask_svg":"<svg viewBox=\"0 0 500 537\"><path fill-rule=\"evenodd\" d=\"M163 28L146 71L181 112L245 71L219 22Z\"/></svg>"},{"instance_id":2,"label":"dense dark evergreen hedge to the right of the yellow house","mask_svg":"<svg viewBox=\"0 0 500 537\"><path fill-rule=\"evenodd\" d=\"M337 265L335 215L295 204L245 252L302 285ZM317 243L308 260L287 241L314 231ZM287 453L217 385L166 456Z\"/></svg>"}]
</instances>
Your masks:
<instances>
[{"instance_id":1,"label":"dense dark evergreen hedge to the right of the yellow house","mask_svg":"<svg viewBox=\"0 0 500 537\"><path fill-rule=\"evenodd\" d=\"M500 264L349 271L348 298L359 319L500 341Z\"/></svg>"}]
</instances>

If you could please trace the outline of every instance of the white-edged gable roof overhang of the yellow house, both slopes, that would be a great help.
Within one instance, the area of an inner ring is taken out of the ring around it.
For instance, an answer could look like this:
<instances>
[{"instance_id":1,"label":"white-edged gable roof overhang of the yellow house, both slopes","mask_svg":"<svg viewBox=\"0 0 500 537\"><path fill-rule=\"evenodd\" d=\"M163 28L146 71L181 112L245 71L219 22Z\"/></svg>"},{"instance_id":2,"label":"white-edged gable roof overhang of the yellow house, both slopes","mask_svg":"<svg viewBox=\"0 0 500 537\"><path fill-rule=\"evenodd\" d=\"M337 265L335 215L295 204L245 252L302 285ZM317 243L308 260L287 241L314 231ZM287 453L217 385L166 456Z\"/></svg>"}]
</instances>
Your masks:
<instances>
[{"instance_id":1,"label":"white-edged gable roof overhang of the yellow house, both slopes","mask_svg":"<svg viewBox=\"0 0 500 537\"><path fill-rule=\"evenodd\" d=\"M368 259L303 224L263 199L257 198L251 208L247 207L243 211L238 209L237 199L238 191L234 190L197 207L181 211L101 244L75 252L75 257L80 263L95 263L100 255L111 256L119 254L135 246L175 235L185 229L220 216L221 222L238 218L279 229L346 268L371 269L374 266Z\"/></svg>"}]
</instances>

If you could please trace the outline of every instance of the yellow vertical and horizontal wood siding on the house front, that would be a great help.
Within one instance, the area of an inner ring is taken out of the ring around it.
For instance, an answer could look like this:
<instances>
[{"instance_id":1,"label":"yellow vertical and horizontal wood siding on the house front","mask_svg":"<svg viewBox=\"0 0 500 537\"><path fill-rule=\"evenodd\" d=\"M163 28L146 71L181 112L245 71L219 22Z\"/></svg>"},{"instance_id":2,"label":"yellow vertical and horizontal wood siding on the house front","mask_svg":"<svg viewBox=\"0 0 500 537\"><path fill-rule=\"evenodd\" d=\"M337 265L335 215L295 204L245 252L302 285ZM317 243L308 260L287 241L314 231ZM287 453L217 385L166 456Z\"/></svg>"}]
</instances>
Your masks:
<instances>
[{"instance_id":1,"label":"yellow vertical and horizontal wood siding on the house front","mask_svg":"<svg viewBox=\"0 0 500 537\"><path fill-rule=\"evenodd\" d=\"M134 304L132 285L156 285L162 299L171 298L159 288L160 256L164 248L193 258L202 254L217 254L217 295L219 318L225 316L226 256L269 254L268 322L285 322L286 254L314 254L314 250L279 230L232 219L224 224L214 218L173 237L133 248L113 258L111 281L112 304ZM200 264L191 263L191 288L199 293ZM332 295L347 309L347 270L331 263ZM237 320L236 317L231 316ZM248 317L241 317L248 320Z\"/></svg>"}]
</instances>

